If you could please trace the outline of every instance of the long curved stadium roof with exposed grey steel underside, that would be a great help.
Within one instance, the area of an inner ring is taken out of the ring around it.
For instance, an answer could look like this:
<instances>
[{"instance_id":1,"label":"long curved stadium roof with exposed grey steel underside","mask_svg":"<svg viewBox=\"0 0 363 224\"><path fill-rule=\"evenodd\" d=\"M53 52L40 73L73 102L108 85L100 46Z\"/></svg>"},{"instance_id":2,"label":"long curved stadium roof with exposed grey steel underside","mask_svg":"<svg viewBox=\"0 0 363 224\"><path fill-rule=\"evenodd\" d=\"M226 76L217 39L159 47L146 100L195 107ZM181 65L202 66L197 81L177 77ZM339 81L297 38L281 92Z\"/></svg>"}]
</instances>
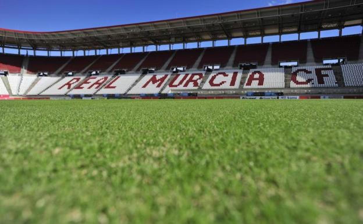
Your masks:
<instances>
[{"instance_id":1,"label":"long curved stadium roof with exposed grey steel underside","mask_svg":"<svg viewBox=\"0 0 363 224\"><path fill-rule=\"evenodd\" d=\"M362 25L363 0L314 0L204 16L78 30L0 28L0 46L91 50L341 29Z\"/></svg>"}]
</instances>

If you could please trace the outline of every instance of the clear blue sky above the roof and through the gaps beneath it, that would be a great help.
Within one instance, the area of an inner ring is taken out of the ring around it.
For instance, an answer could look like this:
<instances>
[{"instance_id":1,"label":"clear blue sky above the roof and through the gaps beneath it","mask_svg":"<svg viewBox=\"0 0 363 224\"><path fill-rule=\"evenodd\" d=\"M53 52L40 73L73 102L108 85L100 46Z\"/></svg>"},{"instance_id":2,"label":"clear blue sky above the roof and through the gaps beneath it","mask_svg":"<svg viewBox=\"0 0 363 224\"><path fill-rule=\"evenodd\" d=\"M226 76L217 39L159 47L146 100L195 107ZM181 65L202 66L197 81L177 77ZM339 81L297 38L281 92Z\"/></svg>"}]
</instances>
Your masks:
<instances>
[{"instance_id":1,"label":"clear blue sky above the roof and through the gaps beneath it","mask_svg":"<svg viewBox=\"0 0 363 224\"><path fill-rule=\"evenodd\" d=\"M253 9L305 0L0 0L0 27L27 31L57 31L140 23L178 17ZM362 32L361 27L346 28L343 35ZM321 37L337 36L337 30L324 31ZM302 39L317 38L317 32L302 34ZM283 41L297 40L297 34L284 35ZM266 37L264 42L278 41L278 36ZM247 43L261 42L248 38ZM232 44L242 44L241 38ZM226 45L217 41L217 46ZM196 44L194 44L196 45ZM188 47L195 47L188 44ZM202 43L211 46L211 42ZM180 46L179 46L180 47ZM150 46L148 50L153 50ZM174 48L176 49L176 48ZM14 50L8 52L13 53ZM22 52L23 53L23 52Z\"/></svg>"}]
</instances>

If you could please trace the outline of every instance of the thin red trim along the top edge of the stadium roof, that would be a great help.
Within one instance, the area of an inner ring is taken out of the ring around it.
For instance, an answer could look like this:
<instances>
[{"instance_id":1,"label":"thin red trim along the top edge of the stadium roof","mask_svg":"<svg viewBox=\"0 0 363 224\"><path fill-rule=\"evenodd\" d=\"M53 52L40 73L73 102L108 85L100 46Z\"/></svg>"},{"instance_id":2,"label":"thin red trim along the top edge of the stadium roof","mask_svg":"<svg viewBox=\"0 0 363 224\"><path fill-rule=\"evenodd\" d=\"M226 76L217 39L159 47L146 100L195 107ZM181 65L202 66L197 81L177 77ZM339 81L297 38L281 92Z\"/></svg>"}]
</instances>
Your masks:
<instances>
[{"instance_id":1,"label":"thin red trim along the top edge of the stadium roof","mask_svg":"<svg viewBox=\"0 0 363 224\"><path fill-rule=\"evenodd\" d=\"M123 24L123 25L95 27L95 28L84 28L84 29L73 29L73 30L60 30L60 31L49 31L49 32L24 31L24 30L5 29L5 28L0 28L0 30L9 31L9 32L16 32L16 33L29 33L29 34L36 34L36 33L65 33L65 32L85 31L85 30L94 30L94 29L107 29L107 28L115 28L115 27L143 25L143 24L149 24L149 23L163 23L163 22L171 22L171 21L176 21L176 20L196 19L196 18L208 17L208 16L222 16L222 15L227 15L227 14L232 14L232 13L241 13L241 12L256 11L256 10L261 10L261 9L277 8L277 7L281 7L281 6L293 6L293 5L301 5L301 4L307 4L307 3L318 3L318 2L321 2L321 1L325 1L325 0L310 0L310 1L302 1L302 2L299 2L299 3L291 3L291 4L286 4L286 5L274 5L274 6L268 6L268 7L255 8L255 9L244 9L244 10L223 12L223 13L215 13L215 14L208 14L208 15L202 15L202 16L181 17L181 18L168 19L168 20L158 20L158 21L150 21L150 22L142 22L142 23L131 23L131 24Z\"/></svg>"}]
</instances>

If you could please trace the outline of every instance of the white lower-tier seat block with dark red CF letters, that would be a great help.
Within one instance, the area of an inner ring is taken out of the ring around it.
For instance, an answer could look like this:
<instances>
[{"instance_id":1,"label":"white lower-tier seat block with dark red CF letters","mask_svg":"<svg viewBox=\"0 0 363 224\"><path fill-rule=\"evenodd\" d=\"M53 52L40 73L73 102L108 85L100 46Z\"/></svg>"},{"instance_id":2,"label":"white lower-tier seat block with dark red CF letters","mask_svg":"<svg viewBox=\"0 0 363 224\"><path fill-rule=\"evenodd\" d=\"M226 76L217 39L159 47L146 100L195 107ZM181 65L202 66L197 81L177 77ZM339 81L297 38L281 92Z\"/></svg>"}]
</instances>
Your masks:
<instances>
[{"instance_id":1,"label":"white lower-tier seat block with dark red CF letters","mask_svg":"<svg viewBox=\"0 0 363 224\"><path fill-rule=\"evenodd\" d=\"M330 65L305 66L293 68L290 87L338 87L338 83Z\"/></svg>"}]
</instances>

